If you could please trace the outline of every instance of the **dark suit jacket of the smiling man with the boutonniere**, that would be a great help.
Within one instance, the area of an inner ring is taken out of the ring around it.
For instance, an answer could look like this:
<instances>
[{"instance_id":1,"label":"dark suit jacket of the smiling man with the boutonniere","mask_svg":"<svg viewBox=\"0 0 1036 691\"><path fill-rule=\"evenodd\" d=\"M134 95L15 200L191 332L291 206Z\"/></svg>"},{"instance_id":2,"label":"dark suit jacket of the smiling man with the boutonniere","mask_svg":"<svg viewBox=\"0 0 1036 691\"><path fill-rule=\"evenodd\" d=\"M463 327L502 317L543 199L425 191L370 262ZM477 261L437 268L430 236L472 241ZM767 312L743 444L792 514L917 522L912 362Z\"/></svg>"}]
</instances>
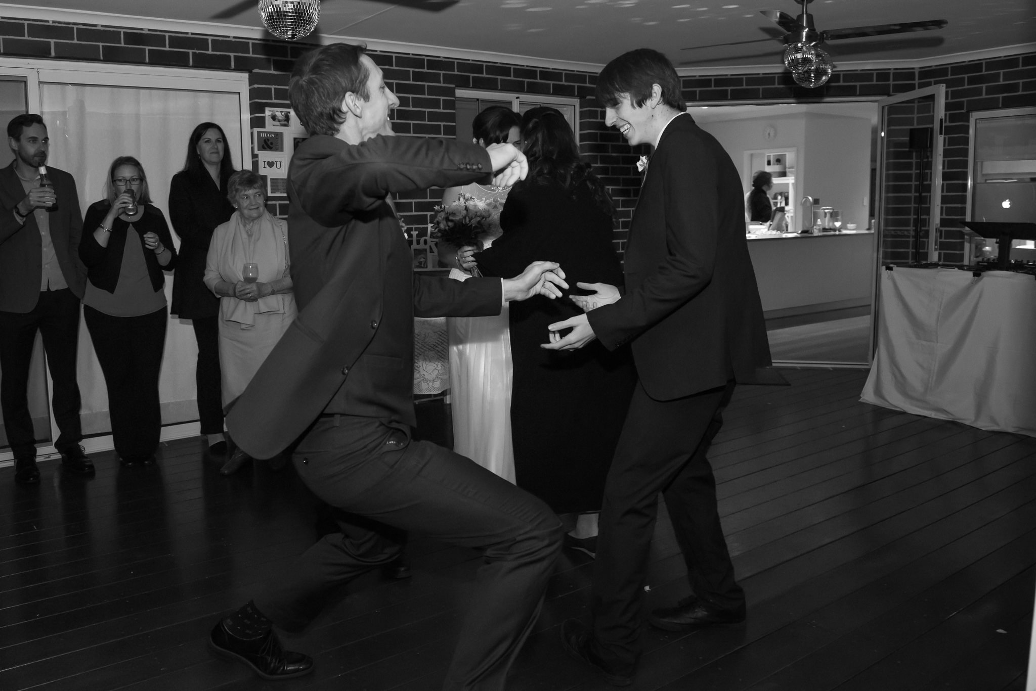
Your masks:
<instances>
[{"instance_id":1,"label":"dark suit jacket of the smiling man with the boutonniere","mask_svg":"<svg viewBox=\"0 0 1036 691\"><path fill-rule=\"evenodd\" d=\"M777 383L745 239L741 176L716 138L677 116L651 155L626 244L626 293L587 313L608 348L632 342L644 391L668 401Z\"/></svg>"}]
</instances>

